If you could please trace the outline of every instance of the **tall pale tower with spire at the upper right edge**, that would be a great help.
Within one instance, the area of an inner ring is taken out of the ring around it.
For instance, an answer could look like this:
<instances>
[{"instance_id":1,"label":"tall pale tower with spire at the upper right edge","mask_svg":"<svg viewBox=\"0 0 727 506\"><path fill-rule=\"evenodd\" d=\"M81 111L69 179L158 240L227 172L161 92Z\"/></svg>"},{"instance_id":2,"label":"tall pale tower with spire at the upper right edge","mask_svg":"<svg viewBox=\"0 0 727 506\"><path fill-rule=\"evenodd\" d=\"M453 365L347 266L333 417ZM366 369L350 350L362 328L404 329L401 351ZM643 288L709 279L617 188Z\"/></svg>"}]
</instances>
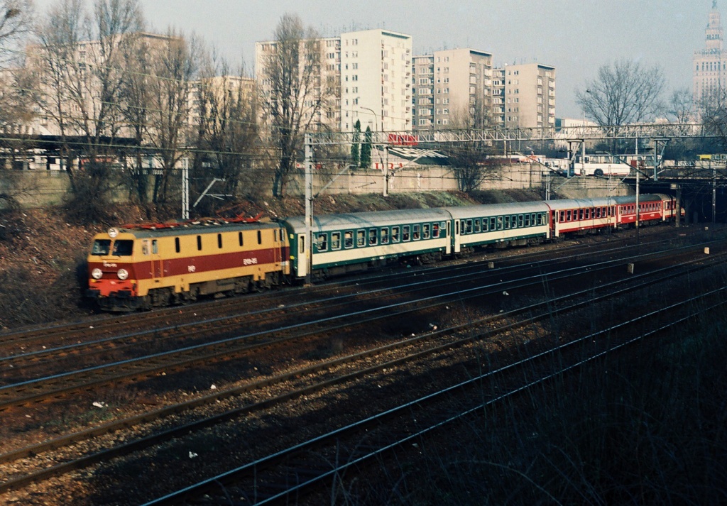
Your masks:
<instances>
[{"instance_id":1,"label":"tall pale tower with spire at the upper right edge","mask_svg":"<svg viewBox=\"0 0 727 506\"><path fill-rule=\"evenodd\" d=\"M702 108L727 91L727 50L723 47L724 31L717 0L712 0L707 28L704 30L704 49L694 52L692 93L694 103Z\"/></svg>"}]
</instances>

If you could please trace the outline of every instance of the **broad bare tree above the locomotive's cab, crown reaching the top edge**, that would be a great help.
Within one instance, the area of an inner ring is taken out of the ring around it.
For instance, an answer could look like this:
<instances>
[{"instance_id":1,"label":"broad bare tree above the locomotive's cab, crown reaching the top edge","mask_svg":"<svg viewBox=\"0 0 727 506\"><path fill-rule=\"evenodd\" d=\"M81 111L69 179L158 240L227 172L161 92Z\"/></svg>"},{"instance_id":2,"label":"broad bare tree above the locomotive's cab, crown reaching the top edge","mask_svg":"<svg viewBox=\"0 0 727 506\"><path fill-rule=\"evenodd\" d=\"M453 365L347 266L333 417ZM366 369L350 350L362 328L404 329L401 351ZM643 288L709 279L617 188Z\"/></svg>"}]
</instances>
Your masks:
<instances>
[{"instance_id":1,"label":"broad bare tree above the locomotive's cab, crown reaching the top edge","mask_svg":"<svg viewBox=\"0 0 727 506\"><path fill-rule=\"evenodd\" d=\"M60 0L41 20L33 47L39 106L61 137L79 217L103 214L122 126L124 55L142 29L137 0ZM79 169L73 164L79 158ZM81 167L82 166L82 167Z\"/></svg>"}]
</instances>

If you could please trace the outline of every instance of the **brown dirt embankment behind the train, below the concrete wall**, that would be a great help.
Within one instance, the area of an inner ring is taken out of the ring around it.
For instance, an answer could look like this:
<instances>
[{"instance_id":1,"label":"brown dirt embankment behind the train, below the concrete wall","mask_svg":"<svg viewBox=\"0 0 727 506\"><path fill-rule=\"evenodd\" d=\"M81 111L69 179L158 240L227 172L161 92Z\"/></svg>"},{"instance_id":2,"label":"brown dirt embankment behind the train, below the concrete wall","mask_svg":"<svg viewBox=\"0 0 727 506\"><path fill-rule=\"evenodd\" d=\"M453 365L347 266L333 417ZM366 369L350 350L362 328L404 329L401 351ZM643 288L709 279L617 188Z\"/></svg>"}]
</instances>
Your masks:
<instances>
[{"instance_id":1,"label":"brown dirt embankment behind the train, below the concrete wall","mask_svg":"<svg viewBox=\"0 0 727 506\"><path fill-rule=\"evenodd\" d=\"M422 209L497 202L538 200L525 191L462 193L407 193L321 196L314 214ZM299 198L246 201L234 214L271 220L304 214ZM86 255L95 233L113 225L143 222L150 213L133 206L112 209L109 222L79 225L68 221L63 209L23 209L0 213L0 332L19 326L78 320L95 313L83 297L87 287ZM178 214L178 213L177 213ZM174 211L152 216L173 219Z\"/></svg>"}]
</instances>

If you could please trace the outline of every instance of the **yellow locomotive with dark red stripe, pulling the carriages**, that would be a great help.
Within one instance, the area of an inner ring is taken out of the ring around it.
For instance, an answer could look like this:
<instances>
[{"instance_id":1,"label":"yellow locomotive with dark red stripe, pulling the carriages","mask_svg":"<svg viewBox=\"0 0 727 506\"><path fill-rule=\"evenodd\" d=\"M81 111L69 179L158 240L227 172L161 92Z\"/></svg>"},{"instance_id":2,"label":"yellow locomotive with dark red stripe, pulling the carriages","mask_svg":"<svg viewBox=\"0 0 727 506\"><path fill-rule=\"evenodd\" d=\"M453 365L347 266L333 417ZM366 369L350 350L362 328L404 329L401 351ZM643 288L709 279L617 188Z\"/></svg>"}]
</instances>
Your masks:
<instances>
[{"instance_id":1,"label":"yellow locomotive with dark red stripe, pulling the carriages","mask_svg":"<svg viewBox=\"0 0 727 506\"><path fill-rule=\"evenodd\" d=\"M95 236L87 296L105 310L136 310L244 293L280 284L288 256L276 223L124 225Z\"/></svg>"}]
</instances>

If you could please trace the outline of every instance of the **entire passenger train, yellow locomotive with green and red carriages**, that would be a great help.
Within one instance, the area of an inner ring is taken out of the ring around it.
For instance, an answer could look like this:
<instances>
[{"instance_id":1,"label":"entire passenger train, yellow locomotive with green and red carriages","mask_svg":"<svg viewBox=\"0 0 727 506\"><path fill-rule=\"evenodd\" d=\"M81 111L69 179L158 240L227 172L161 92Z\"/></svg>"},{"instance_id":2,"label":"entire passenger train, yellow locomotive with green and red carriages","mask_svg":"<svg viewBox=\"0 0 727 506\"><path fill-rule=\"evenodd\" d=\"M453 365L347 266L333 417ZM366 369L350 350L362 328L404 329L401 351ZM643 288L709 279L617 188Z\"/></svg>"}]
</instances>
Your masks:
<instances>
[{"instance_id":1,"label":"entire passenger train, yellow locomotive with green and red carriages","mask_svg":"<svg viewBox=\"0 0 727 506\"><path fill-rule=\"evenodd\" d=\"M638 207L643 224L676 217L671 196L641 195ZM124 225L95 236L87 297L103 310L148 309L632 227L636 218L635 196L328 214L314 217L312 252L304 217Z\"/></svg>"}]
</instances>

